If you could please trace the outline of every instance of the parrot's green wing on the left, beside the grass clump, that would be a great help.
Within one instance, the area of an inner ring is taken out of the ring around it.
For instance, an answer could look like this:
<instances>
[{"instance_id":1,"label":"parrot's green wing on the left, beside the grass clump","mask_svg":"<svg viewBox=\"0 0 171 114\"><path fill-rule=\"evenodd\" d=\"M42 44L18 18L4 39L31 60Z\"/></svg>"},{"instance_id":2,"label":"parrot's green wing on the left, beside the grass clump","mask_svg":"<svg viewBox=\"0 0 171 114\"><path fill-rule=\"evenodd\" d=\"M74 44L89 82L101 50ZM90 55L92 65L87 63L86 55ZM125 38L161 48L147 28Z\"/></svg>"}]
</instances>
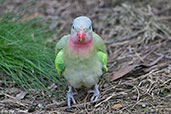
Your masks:
<instances>
[{"instance_id":1,"label":"parrot's green wing on the left, beside the grass clump","mask_svg":"<svg viewBox=\"0 0 171 114\"><path fill-rule=\"evenodd\" d=\"M63 48L68 40L70 35L63 36L59 42L56 44L55 47L55 53L56 53L56 59L55 59L55 67L57 70L57 73L59 76L61 76L62 72L65 69L65 63L63 60Z\"/></svg>"}]
</instances>

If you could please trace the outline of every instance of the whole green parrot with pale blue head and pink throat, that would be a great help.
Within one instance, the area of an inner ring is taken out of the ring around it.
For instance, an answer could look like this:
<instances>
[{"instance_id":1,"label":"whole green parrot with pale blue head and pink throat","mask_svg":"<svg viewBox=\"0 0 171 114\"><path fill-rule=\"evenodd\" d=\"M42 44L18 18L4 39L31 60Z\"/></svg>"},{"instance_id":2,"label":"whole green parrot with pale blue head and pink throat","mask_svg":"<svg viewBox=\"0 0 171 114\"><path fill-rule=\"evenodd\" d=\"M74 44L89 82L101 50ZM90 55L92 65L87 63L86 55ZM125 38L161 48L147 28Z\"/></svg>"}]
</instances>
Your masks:
<instances>
[{"instance_id":1,"label":"whole green parrot with pale blue head and pink throat","mask_svg":"<svg viewBox=\"0 0 171 114\"><path fill-rule=\"evenodd\" d=\"M103 39L92 29L92 21L87 16L73 20L71 32L64 35L55 47L55 67L59 77L63 76L68 83L67 104L76 104L73 88L92 88L91 102L97 101L100 92L99 78L107 72L107 50Z\"/></svg>"}]
</instances>

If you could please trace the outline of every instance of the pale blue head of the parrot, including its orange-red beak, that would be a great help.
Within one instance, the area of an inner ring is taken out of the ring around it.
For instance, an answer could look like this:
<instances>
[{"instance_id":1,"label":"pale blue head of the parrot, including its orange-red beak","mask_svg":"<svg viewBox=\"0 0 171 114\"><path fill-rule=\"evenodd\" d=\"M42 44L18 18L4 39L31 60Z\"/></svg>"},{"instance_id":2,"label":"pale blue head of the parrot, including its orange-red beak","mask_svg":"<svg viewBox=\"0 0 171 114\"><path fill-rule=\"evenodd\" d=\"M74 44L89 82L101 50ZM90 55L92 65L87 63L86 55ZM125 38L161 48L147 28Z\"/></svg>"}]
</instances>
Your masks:
<instances>
[{"instance_id":1,"label":"pale blue head of the parrot, including its orange-red beak","mask_svg":"<svg viewBox=\"0 0 171 114\"><path fill-rule=\"evenodd\" d=\"M80 41L92 37L92 21L86 16L79 16L74 19L71 28L71 35L76 35Z\"/></svg>"}]
</instances>

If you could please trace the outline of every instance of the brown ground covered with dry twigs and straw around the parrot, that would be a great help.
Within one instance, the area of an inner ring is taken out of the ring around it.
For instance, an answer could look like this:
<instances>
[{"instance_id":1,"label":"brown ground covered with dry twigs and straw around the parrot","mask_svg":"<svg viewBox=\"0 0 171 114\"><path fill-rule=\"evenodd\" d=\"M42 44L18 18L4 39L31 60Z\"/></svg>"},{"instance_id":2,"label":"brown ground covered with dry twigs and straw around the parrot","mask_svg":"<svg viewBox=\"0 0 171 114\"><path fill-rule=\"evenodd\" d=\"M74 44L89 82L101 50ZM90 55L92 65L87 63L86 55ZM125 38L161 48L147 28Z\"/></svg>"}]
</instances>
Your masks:
<instances>
[{"instance_id":1,"label":"brown ground covered with dry twigs and straw around the parrot","mask_svg":"<svg viewBox=\"0 0 171 114\"><path fill-rule=\"evenodd\" d=\"M56 30L50 43L70 32L75 17L90 17L107 46L109 71L99 82L99 100L89 102L82 88L71 109L66 86L52 84L49 89L57 91L52 95L27 94L0 81L1 113L171 113L170 0L6 0L0 15L9 11L23 14L20 21L44 18L49 32Z\"/></svg>"}]
</instances>

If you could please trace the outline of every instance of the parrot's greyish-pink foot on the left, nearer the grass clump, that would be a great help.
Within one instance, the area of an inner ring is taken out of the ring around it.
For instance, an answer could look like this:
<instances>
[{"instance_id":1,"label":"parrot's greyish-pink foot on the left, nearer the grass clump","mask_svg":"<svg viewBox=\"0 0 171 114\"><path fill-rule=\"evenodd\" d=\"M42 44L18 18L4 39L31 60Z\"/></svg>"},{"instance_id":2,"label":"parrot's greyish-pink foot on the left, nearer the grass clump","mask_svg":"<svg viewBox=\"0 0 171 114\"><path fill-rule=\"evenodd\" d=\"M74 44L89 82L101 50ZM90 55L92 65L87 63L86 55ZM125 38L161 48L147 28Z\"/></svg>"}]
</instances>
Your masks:
<instances>
[{"instance_id":1,"label":"parrot's greyish-pink foot on the left, nearer the grass clump","mask_svg":"<svg viewBox=\"0 0 171 114\"><path fill-rule=\"evenodd\" d=\"M68 108L71 107L71 100L73 102L73 104L76 104L75 99L74 99L74 95L77 94L76 92L72 92L72 87L68 86L69 90L67 93L67 102L68 102Z\"/></svg>"}]
</instances>

